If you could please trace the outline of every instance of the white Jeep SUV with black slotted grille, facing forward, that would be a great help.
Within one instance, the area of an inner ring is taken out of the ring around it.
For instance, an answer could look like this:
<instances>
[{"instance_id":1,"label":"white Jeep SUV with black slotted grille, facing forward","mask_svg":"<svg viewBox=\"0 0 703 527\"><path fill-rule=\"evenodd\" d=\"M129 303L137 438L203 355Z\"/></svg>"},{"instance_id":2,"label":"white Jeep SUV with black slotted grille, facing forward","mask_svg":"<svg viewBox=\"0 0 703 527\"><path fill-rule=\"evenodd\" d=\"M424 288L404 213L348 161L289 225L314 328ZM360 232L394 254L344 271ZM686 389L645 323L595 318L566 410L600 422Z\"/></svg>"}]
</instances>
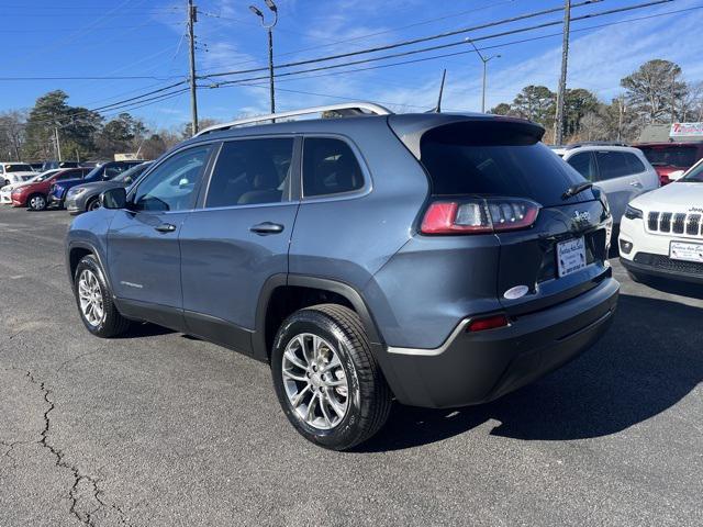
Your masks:
<instances>
[{"instance_id":1,"label":"white Jeep SUV with black slotted grille, facing forward","mask_svg":"<svg viewBox=\"0 0 703 527\"><path fill-rule=\"evenodd\" d=\"M668 277L703 283L703 160L678 181L633 200L620 256L634 280Z\"/></svg>"}]
</instances>

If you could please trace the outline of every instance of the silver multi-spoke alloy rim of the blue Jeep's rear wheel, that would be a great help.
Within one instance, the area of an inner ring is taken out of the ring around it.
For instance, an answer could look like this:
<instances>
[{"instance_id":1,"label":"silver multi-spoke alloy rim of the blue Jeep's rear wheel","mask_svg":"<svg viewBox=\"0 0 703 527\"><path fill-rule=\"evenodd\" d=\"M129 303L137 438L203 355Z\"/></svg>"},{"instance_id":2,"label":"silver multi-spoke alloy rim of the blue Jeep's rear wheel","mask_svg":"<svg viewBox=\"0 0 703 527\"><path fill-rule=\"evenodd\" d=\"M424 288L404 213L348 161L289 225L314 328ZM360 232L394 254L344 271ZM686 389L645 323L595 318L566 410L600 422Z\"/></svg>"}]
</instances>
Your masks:
<instances>
[{"instance_id":1,"label":"silver multi-spoke alloy rim of the blue Jeep's rear wheel","mask_svg":"<svg viewBox=\"0 0 703 527\"><path fill-rule=\"evenodd\" d=\"M339 354L327 340L310 333L294 336L283 351L281 375L302 422L328 430L344 419L349 386Z\"/></svg>"}]
</instances>

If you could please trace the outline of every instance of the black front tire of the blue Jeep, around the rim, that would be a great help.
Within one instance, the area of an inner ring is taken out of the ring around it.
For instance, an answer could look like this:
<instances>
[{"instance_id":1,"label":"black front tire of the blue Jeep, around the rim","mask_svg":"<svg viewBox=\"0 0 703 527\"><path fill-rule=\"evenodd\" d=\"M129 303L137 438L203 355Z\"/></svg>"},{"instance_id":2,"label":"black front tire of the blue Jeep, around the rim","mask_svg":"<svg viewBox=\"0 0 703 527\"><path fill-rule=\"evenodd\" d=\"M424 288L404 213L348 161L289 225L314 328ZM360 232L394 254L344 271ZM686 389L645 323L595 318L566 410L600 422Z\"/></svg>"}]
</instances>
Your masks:
<instances>
[{"instance_id":1,"label":"black front tire of the blue Jeep, around the rim","mask_svg":"<svg viewBox=\"0 0 703 527\"><path fill-rule=\"evenodd\" d=\"M79 298L79 281L83 272L91 273L96 279L100 289L100 298L102 299L103 315L97 323L91 323L81 307ZM112 291L105 281L104 274L98 260L92 255L85 256L78 267L76 268L76 274L74 276L74 295L76 298L76 304L78 305L78 313L86 328L97 337L112 338L123 334L130 327L130 321L120 314L114 302L112 301Z\"/></svg>"}]
</instances>

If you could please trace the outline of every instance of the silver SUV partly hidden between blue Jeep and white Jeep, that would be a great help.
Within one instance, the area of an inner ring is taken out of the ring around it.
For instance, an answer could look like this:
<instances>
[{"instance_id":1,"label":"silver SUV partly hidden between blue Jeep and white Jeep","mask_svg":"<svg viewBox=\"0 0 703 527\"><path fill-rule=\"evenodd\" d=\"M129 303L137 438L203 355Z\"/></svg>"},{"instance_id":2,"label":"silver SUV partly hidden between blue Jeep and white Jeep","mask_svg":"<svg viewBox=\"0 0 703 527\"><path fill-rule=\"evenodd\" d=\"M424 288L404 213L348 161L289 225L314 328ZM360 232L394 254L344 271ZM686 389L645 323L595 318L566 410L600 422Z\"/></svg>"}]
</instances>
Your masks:
<instances>
[{"instance_id":1,"label":"silver SUV partly hidden between blue Jeep and white Jeep","mask_svg":"<svg viewBox=\"0 0 703 527\"><path fill-rule=\"evenodd\" d=\"M660 184L657 171L637 148L612 143L580 143L554 148L554 152L605 192L616 228L627 203Z\"/></svg>"}]
</instances>

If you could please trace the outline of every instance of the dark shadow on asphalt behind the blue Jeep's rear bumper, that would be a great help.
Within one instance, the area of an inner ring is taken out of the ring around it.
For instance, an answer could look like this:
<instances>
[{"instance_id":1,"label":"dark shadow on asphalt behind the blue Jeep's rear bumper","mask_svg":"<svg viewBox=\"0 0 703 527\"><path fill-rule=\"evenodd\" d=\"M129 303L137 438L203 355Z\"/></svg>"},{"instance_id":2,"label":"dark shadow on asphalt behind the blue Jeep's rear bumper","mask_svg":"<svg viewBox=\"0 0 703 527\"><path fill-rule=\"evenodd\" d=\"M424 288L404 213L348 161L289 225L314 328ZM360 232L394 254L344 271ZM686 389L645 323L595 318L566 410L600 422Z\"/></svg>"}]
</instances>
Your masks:
<instances>
[{"instance_id":1,"label":"dark shadow on asphalt behind the blue Jeep's rear bumper","mask_svg":"<svg viewBox=\"0 0 703 527\"><path fill-rule=\"evenodd\" d=\"M703 310L621 295L604 337L576 361L495 402L457 410L397 405L357 451L431 444L496 419L492 435L525 440L606 436L676 405L703 380Z\"/></svg>"}]
</instances>

